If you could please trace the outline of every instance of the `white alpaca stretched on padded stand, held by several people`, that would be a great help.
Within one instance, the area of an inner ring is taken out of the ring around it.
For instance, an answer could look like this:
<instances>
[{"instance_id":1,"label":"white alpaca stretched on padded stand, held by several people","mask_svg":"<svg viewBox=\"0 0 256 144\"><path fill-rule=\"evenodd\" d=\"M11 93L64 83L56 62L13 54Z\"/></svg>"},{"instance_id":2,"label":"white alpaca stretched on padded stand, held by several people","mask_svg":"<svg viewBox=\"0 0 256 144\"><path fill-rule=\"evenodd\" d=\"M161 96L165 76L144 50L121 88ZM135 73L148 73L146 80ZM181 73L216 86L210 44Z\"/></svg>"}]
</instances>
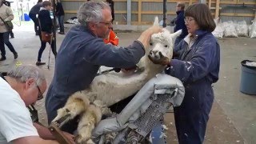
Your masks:
<instances>
[{"instance_id":1,"label":"white alpaca stretched on padded stand, held by several people","mask_svg":"<svg viewBox=\"0 0 256 144\"><path fill-rule=\"evenodd\" d=\"M158 18L155 18L154 25L158 25ZM179 30L170 34L169 30L163 29L162 33L153 34L150 46L145 49L145 56L138 62L138 67L143 69L142 71L138 70L133 74L111 72L95 77L88 89L78 91L70 96L66 105L58 110L58 115L53 122L58 123L61 118L66 117L69 117L66 118L69 120L80 114L76 142L92 143L91 131L102 118L102 114L110 113L107 106L135 94L150 78L161 73L165 66L156 65L154 61L170 62L174 38L177 38L181 32ZM80 101L78 101L79 98ZM93 104L90 105L90 102Z\"/></svg>"}]
</instances>

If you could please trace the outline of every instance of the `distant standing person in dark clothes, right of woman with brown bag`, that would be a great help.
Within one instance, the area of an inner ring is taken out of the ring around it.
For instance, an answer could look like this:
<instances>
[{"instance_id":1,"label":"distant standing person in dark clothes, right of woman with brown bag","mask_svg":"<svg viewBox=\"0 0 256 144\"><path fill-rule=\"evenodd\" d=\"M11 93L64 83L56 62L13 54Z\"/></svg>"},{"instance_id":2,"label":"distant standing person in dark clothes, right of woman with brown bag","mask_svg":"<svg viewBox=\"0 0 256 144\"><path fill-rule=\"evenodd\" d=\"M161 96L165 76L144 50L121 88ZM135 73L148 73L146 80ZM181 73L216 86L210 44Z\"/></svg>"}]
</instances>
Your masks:
<instances>
[{"instance_id":1,"label":"distant standing person in dark clothes, right of woman with brown bag","mask_svg":"<svg viewBox=\"0 0 256 144\"><path fill-rule=\"evenodd\" d=\"M58 24L59 24L59 32L58 34L65 34L64 32L64 10L63 10L63 6L62 6L62 2L60 0L57 1L56 4L56 16L58 18Z\"/></svg>"}]
</instances>

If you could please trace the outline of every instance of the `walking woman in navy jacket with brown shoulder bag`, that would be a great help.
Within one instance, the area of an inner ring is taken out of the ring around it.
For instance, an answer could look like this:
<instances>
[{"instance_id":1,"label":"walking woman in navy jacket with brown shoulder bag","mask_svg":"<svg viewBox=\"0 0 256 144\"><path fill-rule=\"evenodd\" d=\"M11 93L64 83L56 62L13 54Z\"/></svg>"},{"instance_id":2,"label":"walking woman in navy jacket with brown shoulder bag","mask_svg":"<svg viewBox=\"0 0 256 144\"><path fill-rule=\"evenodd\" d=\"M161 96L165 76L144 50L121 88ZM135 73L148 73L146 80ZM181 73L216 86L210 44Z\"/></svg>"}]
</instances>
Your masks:
<instances>
[{"instance_id":1,"label":"walking woman in navy jacket with brown shoulder bag","mask_svg":"<svg viewBox=\"0 0 256 144\"><path fill-rule=\"evenodd\" d=\"M38 13L38 22L39 22L39 38L41 41L41 47L38 51L38 62L37 66L44 65L46 62L41 62L42 52L46 49L46 42L50 44L51 50L54 53L56 58L57 51L54 46L54 38L52 37L53 32L53 22L50 18L51 3L49 1L42 2L42 7Z\"/></svg>"}]
</instances>

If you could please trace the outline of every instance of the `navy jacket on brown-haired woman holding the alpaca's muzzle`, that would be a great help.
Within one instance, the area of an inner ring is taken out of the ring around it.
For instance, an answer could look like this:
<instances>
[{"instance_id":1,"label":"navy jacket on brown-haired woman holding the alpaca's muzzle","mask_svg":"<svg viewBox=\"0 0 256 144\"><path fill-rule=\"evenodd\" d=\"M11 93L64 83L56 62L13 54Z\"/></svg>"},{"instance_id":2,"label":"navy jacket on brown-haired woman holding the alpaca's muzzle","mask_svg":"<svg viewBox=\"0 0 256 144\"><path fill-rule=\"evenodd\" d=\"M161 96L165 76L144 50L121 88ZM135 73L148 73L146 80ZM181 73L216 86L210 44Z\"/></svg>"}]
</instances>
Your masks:
<instances>
[{"instance_id":1,"label":"navy jacket on brown-haired woman holding the alpaca's muzzle","mask_svg":"<svg viewBox=\"0 0 256 144\"><path fill-rule=\"evenodd\" d=\"M188 50L188 43L182 40L174 48L179 58L170 62L170 74L185 84L206 79L210 83L218 81L220 48L218 41L210 32L197 30L197 40Z\"/></svg>"}]
</instances>

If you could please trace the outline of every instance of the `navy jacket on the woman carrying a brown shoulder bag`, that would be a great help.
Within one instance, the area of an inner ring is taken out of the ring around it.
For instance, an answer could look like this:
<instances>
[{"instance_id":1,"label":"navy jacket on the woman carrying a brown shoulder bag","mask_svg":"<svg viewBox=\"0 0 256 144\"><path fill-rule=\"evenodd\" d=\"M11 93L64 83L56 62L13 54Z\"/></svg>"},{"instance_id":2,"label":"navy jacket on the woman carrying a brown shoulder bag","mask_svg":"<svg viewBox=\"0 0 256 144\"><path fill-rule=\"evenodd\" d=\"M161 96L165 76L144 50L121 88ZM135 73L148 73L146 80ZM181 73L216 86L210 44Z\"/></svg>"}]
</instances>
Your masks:
<instances>
[{"instance_id":1,"label":"navy jacket on the woman carrying a brown shoulder bag","mask_svg":"<svg viewBox=\"0 0 256 144\"><path fill-rule=\"evenodd\" d=\"M53 22L50 18L49 10L40 10L38 13L39 31L46 31L52 33Z\"/></svg>"}]
</instances>

